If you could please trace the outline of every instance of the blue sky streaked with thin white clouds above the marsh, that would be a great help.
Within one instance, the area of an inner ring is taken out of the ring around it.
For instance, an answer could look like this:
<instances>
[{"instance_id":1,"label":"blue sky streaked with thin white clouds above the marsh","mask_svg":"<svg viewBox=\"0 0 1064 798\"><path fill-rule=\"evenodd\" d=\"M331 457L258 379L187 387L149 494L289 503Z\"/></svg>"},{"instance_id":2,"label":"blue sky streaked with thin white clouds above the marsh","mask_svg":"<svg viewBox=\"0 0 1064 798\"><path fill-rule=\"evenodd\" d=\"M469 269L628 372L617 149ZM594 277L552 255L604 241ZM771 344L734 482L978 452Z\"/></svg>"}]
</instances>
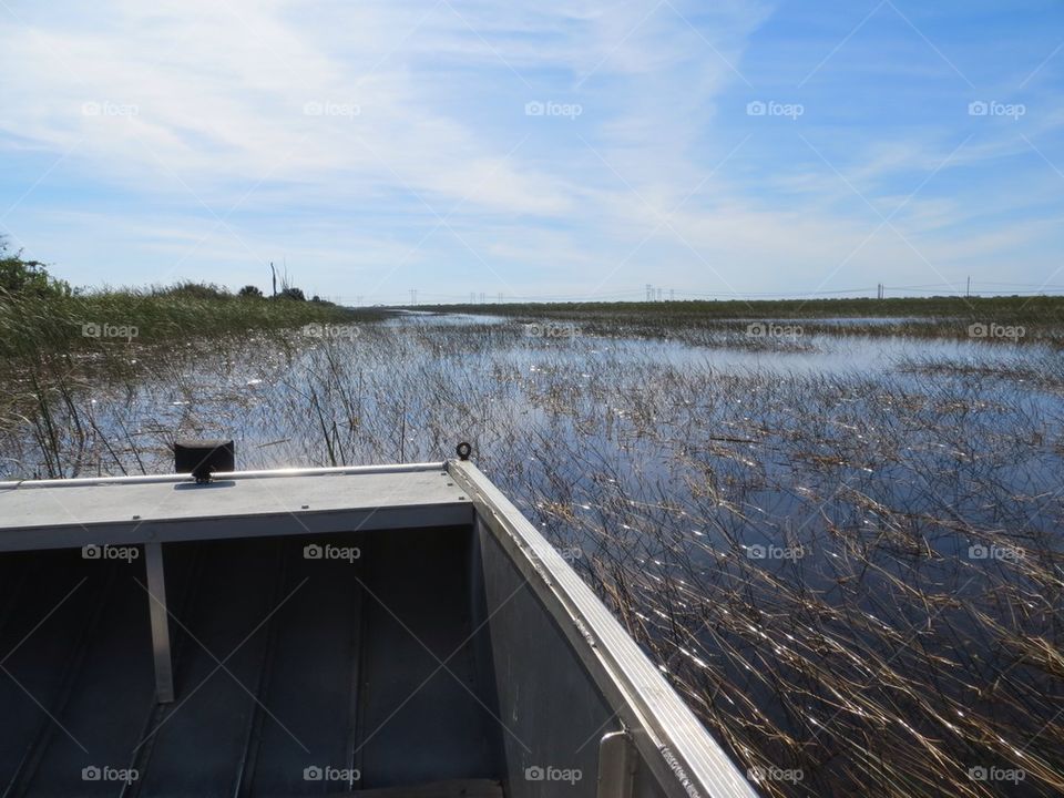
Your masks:
<instances>
[{"instance_id":1,"label":"blue sky streaked with thin white clouds above the marsh","mask_svg":"<svg viewBox=\"0 0 1064 798\"><path fill-rule=\"evenodd\" d=\"M0 0L0 233L76 285L1064 286L1056 1Z\"/></svg>"}]
</instances>

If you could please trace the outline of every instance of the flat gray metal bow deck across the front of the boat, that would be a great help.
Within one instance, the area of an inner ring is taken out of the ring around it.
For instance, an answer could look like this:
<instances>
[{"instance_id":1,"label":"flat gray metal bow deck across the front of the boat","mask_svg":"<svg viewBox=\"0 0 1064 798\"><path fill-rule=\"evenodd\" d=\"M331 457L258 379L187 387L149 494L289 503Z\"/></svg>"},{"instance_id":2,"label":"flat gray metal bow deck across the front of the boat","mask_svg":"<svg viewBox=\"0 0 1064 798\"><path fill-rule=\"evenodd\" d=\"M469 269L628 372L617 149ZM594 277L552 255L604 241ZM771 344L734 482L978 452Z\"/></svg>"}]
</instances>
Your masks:
<instances>
[{"instance_id":1,"label":"flat gray metal bow deck across the front of the boat","mask_svg":"<svg viewBox=\"0 0 1064 798\"><path fill-rule=\"evenodd\" d=\"M262 474L222 478L207 485L171 475L0 483L0 550L395 529L472 519L468 498L442 464ZM98 530L106 532L106 540L96 540Z\"/></svg>"}]
</instances>

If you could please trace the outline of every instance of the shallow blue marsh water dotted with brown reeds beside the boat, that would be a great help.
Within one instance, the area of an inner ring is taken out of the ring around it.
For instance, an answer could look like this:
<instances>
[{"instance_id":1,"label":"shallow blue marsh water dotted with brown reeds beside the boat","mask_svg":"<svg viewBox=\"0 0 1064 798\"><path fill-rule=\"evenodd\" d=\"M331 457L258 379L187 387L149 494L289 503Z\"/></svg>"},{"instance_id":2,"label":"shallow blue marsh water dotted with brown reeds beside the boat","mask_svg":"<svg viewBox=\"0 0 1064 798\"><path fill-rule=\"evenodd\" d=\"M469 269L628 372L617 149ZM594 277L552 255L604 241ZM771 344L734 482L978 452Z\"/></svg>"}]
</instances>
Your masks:
<instances>
[{"instance_id":1,"label":"shallow blue marsh water dotted with brown reeds beside the boat","mask_svg":"<svg viewBox=\"0 0 1064 798\"><path fill-rule=\"evenodd\" d=\"M1055 795L1061 355L838 327L408 315L116 349L121 377L90 361L62 390L18 383L34 401L4 421L0 469L167 471L188 436L234 437L242 468L469 440L764 791ZM1024 778L972 776L994 767Z\"/></svg>"}]
</instances>

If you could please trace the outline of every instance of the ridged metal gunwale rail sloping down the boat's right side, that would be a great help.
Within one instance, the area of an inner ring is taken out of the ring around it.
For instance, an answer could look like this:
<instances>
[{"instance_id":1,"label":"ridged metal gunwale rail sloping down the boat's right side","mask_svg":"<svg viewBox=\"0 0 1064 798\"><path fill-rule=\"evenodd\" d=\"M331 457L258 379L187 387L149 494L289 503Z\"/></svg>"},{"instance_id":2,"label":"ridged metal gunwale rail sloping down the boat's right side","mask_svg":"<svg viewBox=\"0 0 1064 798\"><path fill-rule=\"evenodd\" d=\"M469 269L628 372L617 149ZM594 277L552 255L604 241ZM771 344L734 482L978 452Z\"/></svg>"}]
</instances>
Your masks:
<instances>
[{"instance_id":1,"label":"ridged metal gunwale rail sloping down the boat's right side","mask_svg":"<svg viewBox=\"0 0 1064 798\"><path fill-rule=\"evenodd\" d=\"M635 745L669 795L757 798L616 617L505 494L471 462L449 461L448 471L554 616L600 689L620 699L620 715L635 730Z\"/></svg>"}]
</instances>

